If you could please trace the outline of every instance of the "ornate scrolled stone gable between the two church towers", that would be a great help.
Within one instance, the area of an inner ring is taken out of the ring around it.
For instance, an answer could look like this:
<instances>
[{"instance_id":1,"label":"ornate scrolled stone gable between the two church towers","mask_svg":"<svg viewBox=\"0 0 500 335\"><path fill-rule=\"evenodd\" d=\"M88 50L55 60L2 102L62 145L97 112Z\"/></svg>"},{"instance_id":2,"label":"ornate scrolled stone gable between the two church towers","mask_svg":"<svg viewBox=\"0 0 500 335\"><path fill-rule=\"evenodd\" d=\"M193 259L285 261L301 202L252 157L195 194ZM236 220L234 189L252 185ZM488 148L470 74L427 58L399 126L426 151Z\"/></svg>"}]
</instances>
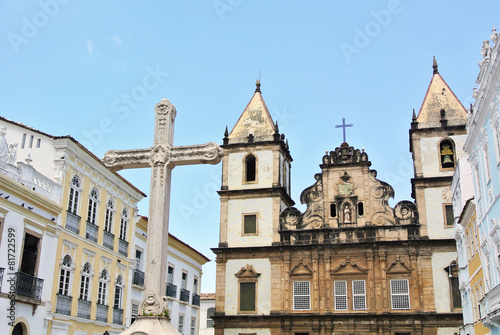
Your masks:
<instances>
[{"instance_id":1,"label":"ornate scrolled stone gable between the two church towers","mask_svg":"<svg viewBox=\"0 0 500 335\"><path fill-rule=\"evenodd\" d=\"M280 214L280 243L339 243L399 236L419 238L416 205L401 201L392 208L389 199L394 198L394 189L376 178L377 171L368 169L371 162L367 157L364 151L345 144L323 156L323 173L316 174L316 182L300 196L301 203L307 206L305 212L291 207ZM395 225L412 226L401 228L407 230L404 233L378 228Z\"/></svg>"}]
</instances>

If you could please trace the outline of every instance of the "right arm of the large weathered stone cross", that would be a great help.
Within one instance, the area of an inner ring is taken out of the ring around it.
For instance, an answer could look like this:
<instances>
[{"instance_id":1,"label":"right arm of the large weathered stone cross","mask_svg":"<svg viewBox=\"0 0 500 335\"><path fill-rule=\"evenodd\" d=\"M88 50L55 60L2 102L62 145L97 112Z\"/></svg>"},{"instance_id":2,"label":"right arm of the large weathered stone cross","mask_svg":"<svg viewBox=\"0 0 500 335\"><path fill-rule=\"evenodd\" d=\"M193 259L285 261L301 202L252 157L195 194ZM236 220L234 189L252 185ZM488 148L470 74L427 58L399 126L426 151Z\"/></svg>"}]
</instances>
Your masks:
<instances>
[{"instance_id":1,"label":"right arm of the large weathered stone cross","mask_svg":"<svg viewBox=\"0 0 500 335\"><path fill-rule=\"evenodd\" d=\"M173 147L170 163L177 165L218 164L224 155L222 148L214 142Z\"/></svg>"}]
</instances>

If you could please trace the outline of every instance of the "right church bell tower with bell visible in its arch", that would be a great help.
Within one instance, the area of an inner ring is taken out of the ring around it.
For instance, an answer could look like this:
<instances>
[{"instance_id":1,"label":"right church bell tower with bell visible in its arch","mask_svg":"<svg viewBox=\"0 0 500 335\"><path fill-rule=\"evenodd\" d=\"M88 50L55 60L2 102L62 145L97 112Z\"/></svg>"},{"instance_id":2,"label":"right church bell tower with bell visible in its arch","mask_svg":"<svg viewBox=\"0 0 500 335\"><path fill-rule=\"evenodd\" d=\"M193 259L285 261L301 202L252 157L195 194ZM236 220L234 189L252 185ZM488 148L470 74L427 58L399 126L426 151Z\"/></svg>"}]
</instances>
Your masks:
<instances>
[{"instance_id":1,"label":"right church bell tower with bell visible in its arch","mask_svg":"<svg viewBox=\"0 0 500 335\"><path fill-rule=\"evenodd\" d=\"M421 235L453 238L451 180L465 153L467 111L439 74L433 59L432 79L410 129L414 177L412 197L420 215Z\"/></svg>"}]
</instances>

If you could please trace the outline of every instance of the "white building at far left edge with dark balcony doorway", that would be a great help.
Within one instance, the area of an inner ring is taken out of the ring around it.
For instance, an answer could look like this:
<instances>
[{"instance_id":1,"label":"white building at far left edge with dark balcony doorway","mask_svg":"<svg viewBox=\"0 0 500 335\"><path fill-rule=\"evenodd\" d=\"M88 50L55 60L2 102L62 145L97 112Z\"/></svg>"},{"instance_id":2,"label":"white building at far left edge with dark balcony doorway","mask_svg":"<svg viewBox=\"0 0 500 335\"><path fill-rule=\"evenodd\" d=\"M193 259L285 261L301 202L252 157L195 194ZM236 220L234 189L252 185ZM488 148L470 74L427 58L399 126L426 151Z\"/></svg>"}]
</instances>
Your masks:
<instances>
[{"instance_id":1,"label":"white building at far left edge with dark balcony doorway","mask_svg":"<svg viewBox=\"0 0 500 335\"><path fill-rule=\"evenodd\" d=\"M51 309L61 186L17 160L16 132L0 124L0 308L4 334L45 334ZM35 142L36 143L36 142ZM35 144L36 145L36 144Z\"/></svg>"}]
</instances>

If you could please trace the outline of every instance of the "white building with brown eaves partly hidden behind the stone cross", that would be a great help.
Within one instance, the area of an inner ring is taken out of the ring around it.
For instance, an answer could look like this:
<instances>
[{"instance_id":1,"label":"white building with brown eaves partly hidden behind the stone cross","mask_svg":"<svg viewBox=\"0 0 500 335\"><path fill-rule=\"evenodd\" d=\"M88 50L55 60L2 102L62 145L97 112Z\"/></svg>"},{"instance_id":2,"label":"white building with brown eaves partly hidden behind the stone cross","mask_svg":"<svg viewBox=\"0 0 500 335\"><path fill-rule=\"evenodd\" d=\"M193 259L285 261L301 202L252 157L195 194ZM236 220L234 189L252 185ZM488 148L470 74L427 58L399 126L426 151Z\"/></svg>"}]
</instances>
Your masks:
<instances>
[{"instance_id":1,"label":"white building with brown eaves partly hidden behind the stone cross","mask_svg":"<svg viewBox=\"0 0 500 335\"><path fill-rule=\"evenodd\" d=\"M146 252L148 219L141 216L135 233L135 264L132 277L131 313L133 319L139 310L144 291L144 256ZM181 334L198 334L200 320L200 287L202 266L209 259L199 251L169 234L168 277L165 296L172 325Z\"/></svg>"}]
</instances>

